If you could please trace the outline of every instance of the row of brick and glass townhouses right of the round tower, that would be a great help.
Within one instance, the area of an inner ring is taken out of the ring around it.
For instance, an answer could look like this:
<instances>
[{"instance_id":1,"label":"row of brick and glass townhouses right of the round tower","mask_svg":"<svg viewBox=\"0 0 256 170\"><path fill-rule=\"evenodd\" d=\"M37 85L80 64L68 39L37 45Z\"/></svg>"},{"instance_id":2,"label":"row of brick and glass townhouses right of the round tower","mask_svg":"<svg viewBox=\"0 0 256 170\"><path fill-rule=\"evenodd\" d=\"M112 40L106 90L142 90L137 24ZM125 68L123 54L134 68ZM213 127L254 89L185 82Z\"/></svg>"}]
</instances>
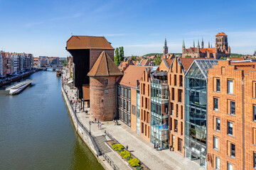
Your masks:
<instances>
[{"instance_id":1,"label":"row of brick and glass townhouses right of the round tower","mask_svg":"<svg viewBox=\"0 0 256 170\"><path fill-rule=\"evenodd\" d=\"M129 65L117 86L119 119L206 169L255 169L255 64L170 57Z\"/></svg>"}]
</instances>

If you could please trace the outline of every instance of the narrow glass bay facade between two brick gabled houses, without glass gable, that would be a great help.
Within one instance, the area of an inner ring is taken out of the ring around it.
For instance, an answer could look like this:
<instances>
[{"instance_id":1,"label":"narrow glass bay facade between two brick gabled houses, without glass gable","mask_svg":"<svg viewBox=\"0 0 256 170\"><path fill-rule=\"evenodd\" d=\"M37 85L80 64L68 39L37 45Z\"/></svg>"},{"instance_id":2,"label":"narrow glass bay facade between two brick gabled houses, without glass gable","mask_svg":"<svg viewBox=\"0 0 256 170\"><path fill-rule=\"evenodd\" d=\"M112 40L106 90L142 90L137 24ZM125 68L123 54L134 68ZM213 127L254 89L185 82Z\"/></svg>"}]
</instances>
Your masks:
<instances>
[{"instance_id":1,"label":"narrow glass bay facade between two brick gabled houses, without glass gable","mask_svg":"<svg viewBox=\"0 0 256 170\"><path fill-rule=\"evenodd\" d=\"M161 149L169 144L169 89L167 72L156 71L151 74L151 135L150 142Z\"/></svg>"}]
</instances>

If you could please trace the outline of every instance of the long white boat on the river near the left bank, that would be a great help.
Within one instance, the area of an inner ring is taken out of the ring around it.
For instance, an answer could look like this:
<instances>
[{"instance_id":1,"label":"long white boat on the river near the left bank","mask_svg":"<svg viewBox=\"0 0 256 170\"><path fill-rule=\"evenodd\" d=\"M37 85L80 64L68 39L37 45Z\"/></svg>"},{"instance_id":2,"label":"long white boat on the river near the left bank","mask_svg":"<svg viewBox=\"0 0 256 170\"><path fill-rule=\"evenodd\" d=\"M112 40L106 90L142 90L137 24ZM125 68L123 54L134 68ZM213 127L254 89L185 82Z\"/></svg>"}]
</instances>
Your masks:
<instances>
[{"instance_id":1,"label":"long white boat on the river near the left bank","mask_svg":"<svg viewBox=\"0 0 256 170\"><path fill-rule=\"evenodd\" d=\"M36 80L26 79L25 81L21 81L21 82L18 82L14 85L7 87L6 91L10 91L9 92L10 95L20 94L21 91L23 91L28 86L30 86L31 83L34 81L36 81Z\"/></svg>"}]
</instances>

